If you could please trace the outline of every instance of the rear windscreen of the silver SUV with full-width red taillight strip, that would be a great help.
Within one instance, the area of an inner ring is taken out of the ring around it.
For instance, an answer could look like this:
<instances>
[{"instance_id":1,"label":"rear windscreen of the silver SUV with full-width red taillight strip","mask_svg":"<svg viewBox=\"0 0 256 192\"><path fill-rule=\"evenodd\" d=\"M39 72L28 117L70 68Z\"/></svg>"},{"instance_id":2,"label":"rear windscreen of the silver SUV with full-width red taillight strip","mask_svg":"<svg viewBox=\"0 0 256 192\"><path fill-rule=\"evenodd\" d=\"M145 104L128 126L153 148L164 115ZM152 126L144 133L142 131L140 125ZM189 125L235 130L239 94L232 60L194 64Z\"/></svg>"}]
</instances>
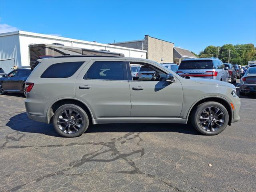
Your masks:
<instances>
[{"instance_id":1,"label":"rear windscreen of the silver SUV with full-width red taillight strip","mask_svg":"<svg viewBox=\"0 0 256 192\"><path fill-rule=\"evenodd\" d=\"M212 69L212 60L182 60L180 69Z\"/></svg>"}]
</instances>

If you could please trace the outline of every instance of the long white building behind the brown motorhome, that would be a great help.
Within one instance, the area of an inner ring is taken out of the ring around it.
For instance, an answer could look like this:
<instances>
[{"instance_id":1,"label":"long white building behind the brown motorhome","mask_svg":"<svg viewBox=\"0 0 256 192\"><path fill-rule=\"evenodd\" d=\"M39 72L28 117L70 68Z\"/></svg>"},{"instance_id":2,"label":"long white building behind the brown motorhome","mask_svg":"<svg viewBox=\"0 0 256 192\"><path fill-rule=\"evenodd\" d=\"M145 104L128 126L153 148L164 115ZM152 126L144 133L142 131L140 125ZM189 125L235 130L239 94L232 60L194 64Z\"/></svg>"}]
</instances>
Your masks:
<instances>
[{"instance_id":1,"label":"long white building behind the brown motorhome","mask_svg":"<svg viewBox=\"0 0 256 192\"><path fill-rule=\"evenodd\" d=\"M87 48L94 50L109 50L123 53L125 57L146 58L146 51L126 48L97 42L89 42L59 36L38 34L26 31L15 31L0 34L0 67L2 66L29 66L30 44L60 43L64 46ZM8 67L9 68L9 67Z\"/></svg>"}]
</instances>

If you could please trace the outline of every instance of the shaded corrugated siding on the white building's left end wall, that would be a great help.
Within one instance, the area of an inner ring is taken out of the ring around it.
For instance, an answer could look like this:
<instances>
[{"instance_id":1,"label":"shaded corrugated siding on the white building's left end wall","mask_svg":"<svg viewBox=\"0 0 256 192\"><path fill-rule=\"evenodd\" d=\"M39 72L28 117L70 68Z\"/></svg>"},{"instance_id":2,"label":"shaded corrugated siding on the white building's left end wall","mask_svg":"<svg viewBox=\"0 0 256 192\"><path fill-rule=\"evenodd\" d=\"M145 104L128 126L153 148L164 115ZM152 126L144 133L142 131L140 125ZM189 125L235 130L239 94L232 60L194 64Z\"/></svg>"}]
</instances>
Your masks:
<instances>
[{"instance_id":1,"label":"shaded corrugated siding on the white building's left end wall","mask_svg":"<svg viewBox=\"0 0 256 192\"><path fill-rule=\"evenodd\" d=\"M0 36L0 60L14 59L21 66L19 35Z\"/></svg>"}]
</instances>

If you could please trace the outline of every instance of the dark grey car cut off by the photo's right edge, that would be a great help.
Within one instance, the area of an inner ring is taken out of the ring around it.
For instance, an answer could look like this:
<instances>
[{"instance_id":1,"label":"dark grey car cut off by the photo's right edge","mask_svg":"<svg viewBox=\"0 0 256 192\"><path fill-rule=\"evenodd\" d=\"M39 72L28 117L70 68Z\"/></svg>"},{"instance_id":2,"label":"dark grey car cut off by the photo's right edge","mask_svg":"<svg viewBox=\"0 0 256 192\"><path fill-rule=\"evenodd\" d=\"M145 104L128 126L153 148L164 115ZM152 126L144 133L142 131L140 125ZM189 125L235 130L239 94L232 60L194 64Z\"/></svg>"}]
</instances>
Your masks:
<instances>
[{"instance_id":1,"label":"dark grey car cut off by the photo's right edge","mask_svg":"<svg viewBox=\"0 0 256 192\"><path fill-rule=\"evenodd\" d=\"M240 80L240 95L256 92L256 66L249 67L243 78Z\"/></svg>"}]
</instances>

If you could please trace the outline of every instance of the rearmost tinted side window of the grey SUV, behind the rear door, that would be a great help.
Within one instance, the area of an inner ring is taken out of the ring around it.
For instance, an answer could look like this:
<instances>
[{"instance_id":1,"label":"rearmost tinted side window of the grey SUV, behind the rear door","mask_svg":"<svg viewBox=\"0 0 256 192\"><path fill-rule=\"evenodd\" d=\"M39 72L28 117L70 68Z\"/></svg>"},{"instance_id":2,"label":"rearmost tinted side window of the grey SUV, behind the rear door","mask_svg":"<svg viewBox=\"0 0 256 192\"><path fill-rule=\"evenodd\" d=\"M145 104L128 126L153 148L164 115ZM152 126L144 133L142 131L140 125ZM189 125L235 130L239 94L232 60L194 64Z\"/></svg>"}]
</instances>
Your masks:
<instances>
[{"instance_id":1,"label":"rearmost tinted side window of the grey SUV, behind the rear door","mask_svg":"<svg viewBox=\"0 0 256 192\"><path fill-rule=\"evenodd\" d=\"M68 78L74 75L78 68L84 62L65 62L65 63L56 63L49 66L44 73L41 75L41 78Z\"/></svg>"}]
</instances>

